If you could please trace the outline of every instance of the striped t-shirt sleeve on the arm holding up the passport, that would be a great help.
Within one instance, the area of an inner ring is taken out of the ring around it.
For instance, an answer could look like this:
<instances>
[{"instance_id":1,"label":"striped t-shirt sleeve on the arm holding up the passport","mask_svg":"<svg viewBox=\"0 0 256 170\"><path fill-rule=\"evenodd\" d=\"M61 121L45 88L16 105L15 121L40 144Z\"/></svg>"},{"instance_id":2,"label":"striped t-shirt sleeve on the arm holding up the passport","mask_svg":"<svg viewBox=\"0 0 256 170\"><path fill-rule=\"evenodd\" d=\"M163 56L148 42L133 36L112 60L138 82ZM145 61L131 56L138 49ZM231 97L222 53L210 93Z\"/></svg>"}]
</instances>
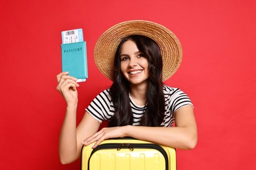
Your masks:
<instances>
[{"instance_id":1,"label":"striped t-shirt sleeve on the arm holding up the passport","mask_svg":"<svg viewBox=\"0 0 256 170\"><path fill-rule=\"evenodd\" d=\"M99 93L85 110L98 120L98 122L102 123L102 121L106 120L108 117L108 112L110 112L110 103L110 92L109 89L107 89Z\"/></svg>"}]
</instances>

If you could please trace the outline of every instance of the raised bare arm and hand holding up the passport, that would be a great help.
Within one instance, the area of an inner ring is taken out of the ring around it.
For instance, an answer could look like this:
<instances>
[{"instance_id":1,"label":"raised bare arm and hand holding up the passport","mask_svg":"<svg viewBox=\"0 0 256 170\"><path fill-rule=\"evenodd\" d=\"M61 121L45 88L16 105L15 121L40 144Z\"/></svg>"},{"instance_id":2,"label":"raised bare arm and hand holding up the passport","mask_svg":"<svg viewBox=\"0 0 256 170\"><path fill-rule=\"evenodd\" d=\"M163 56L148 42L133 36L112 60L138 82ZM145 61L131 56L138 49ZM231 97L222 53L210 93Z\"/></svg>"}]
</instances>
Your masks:
<instances>
[{"instance_id":1,"label":"raised bare arm and hand holding up the passport","mask_svg":"<svg viewBox=\"0 0 256 170\"><path fill-rule=\"evenodd\" d=\"M76 78L68 76L68 73L60 73L57 75L57 80L57 90L62 94L67 103L66 115L59 139L60 161L65 164L71 163L79 158L82 146L81 143L86 137L96 133L100 122L86 112L79 126L76 127L78 101L76 88L79 85L75 82Z\"/></svg>"}]
</instances>

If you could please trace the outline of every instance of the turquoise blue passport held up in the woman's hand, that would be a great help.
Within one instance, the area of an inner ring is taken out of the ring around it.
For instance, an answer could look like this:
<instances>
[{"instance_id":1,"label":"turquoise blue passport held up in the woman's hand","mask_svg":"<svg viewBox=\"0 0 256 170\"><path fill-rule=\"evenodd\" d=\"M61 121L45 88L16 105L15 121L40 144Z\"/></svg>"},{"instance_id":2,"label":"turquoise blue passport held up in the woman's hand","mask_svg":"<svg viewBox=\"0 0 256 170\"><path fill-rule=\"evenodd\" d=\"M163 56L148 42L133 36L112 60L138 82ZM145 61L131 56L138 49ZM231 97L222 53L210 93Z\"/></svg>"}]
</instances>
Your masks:
<instances>
[{"instance_id":1,"label":"turquoise blue passport held up in the woman's hand","mask_svg":"<svg viewBox=\"0 0 256 170\"><path fill-rule=\"evenodd\" d=\"M77 78L77 82L84 82L88 78L86 42L61 44L62 72L68 71Z\"/></svg>"}]
</instances>

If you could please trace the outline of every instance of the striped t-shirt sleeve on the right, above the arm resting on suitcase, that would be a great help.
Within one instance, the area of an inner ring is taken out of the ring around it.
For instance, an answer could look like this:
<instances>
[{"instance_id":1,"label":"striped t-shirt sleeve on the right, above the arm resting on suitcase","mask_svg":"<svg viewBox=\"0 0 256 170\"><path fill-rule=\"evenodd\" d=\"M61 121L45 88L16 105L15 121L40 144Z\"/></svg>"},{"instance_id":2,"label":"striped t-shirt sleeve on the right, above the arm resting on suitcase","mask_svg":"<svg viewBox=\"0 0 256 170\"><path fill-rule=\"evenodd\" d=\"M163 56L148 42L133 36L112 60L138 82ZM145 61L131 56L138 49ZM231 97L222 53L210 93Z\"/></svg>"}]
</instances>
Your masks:
<instances>
[{"instance_id":1,"label":"striped t-shirt sleeve on the right, above the arm resting on suitcase","mask_svg":"<svg viewBox=\"0 0 256 170\"><path fill-rule=\"evenodd\" d=\"M192 102L188 95L179 88L176 88L173 92L170 92L170 100L169 105L171 112L175 113L178 109L181 107L184 107L186 105L192 105Z\"/></svg>"}]
</instances>

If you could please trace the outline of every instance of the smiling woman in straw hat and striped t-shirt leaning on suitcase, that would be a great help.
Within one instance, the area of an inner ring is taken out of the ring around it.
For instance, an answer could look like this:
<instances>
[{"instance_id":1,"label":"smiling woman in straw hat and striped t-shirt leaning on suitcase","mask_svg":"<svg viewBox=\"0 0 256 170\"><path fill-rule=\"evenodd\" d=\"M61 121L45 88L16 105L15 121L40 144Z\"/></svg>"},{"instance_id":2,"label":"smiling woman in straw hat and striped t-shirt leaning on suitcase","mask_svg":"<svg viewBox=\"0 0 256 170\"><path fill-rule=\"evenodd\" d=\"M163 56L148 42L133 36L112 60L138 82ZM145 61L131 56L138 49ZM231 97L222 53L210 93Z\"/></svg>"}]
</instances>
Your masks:
<instances>
[{"instance_id":1,"label":"smiling woman in straw hat and striped t-shirt leaning on suitcase","mask_svg":"<svg viewBox=\"0 0 256 170\"><path fill-rule=\"evenodd\" d=\"M77 160L82 144L95 143L95 148L116 137L194 148L197 126L192 103L186 93L163 84L179 68L181 56L177 37L153 22L123 22L102 34L95 46L95 62L113 84L95 97L77 127L79 84L68 73L57 75L57 90L67 103L60 132L60 161ZM98 131L103 120L108 120L109 126Z\"/></svg>"}]
</instances>

